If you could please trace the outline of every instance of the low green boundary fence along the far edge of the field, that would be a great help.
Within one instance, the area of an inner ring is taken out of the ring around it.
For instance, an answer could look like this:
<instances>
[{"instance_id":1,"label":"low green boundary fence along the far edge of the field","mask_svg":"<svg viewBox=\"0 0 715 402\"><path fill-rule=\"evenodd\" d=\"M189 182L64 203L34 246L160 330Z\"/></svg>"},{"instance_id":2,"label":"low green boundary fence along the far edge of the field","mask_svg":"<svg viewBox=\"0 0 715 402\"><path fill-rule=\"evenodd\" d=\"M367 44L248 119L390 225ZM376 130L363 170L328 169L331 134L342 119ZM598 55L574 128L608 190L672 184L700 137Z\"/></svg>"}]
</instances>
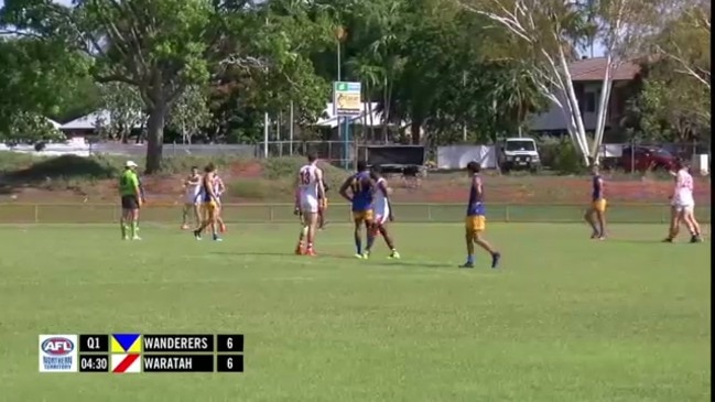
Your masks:
<instances>
[{"instance_id":1,"label":"low green boundary fence along the far edge of the field","mask_svg":"<svg viewBox=\"0 0 715 402\"><path fill-rule=\"evenodd\" d=\"M178 222L181 205L148 205L141 220L149 222ZM394 217L400 222L462 222L466 207L463 204L396 204ZM696 208L697 218L709 222L709 205ZM583 205L509 205L487 206L489 221L510 222L575 222L581 221ZM101 224L118 221L121 209L112 204L0 204L0 222L4 224ZM608 207L608 221L621 224L658 224L669 218L668 205L614 204ZM227 222L293 222L292 204L227 204ZM333 222L349 221L346 204L333 204L328 209Z\"/></svg>"}]
</instances>

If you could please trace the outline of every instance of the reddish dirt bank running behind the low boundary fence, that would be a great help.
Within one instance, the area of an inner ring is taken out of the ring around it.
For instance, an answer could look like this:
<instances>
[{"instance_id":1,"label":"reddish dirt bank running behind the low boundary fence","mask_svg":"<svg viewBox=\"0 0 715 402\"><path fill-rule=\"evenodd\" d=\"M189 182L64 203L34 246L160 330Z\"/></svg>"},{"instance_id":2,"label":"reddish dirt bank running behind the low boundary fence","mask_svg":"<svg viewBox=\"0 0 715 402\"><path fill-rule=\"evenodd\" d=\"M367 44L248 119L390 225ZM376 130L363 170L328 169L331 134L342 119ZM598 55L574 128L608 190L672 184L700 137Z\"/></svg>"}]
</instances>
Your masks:
<instances>
[{"instance_id":1,"label":"reddish dirt bank running behind the low boundary fence","mask_svg":"<svg viewBox=\"0 0 715 402\"><path fill-rule=\"evenodd\" d=\"M259 162L238 162L221 170L224 181L260 178L263 169ZM163 175L143 178L150 203L175 203L181 197L183 175ZM416 188L398 180L390 180L394 188L394 200L402 203L464 203L467 198L468 180L464 175L434 174ZM606 178L606 196L610 202L648 204L665 203L672 183L650 178L618 180ZM486 195L495 204L583 204L589 200L591 181L588 177L572 176L488 176ZM333 197L336 195L334 194ZM227 202L240 203L245 199L227 195ZM0 196L0 200L25 203L113 203L117 199L117 182L98 181L83 186L82 191L51 191L42 188L19 188L13 196ZM697 177L695 199L709 204L711 186L708 177ZM248 200L260 202L260 200ZM285 194L277 194L273 202L286 202Z\"/></svg>"}]
</instances>

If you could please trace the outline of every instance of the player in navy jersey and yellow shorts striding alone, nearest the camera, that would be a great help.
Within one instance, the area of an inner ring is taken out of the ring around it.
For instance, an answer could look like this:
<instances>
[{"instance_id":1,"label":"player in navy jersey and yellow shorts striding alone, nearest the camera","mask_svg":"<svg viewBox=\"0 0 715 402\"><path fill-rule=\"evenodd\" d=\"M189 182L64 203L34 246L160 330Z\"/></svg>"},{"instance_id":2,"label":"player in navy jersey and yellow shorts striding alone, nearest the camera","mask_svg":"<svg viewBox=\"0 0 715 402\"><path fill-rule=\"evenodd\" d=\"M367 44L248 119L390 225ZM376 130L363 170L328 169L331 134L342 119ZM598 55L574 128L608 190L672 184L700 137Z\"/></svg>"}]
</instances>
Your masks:
<instances>
[{"instance_id":1,"label":"player in navy jersey and yellow shorts striding alone, nearest the camera","mask_svg":"<svg viewBox=\"0 0 715 402\"><path fill-rule=\"evenodd\" d=\"M484 205L484 186L479 172L481 165L478 162L467 163L467 172L472 177L469 188L469 204L467 205L467 218L465 220L465 240L467 241L467 262L461 268L474 268L474 243L479 245L483 249L491 254L491 268L499 265L501 254L496 251L491 245L481 237L486 229L485 205Z\"/></svg>"}]
</instances>

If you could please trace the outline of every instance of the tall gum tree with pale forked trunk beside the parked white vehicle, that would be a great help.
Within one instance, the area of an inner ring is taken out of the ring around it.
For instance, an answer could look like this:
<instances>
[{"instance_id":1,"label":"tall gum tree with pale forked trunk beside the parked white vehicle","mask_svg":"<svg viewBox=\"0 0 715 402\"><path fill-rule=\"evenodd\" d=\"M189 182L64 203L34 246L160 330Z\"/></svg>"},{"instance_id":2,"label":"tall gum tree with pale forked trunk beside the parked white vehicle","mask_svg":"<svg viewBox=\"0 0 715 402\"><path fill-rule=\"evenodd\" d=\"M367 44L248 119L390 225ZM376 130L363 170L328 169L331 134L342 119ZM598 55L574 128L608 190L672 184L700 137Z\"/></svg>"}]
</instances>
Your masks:
<instances>
[{"instance_id":1,"label":"tall gum tree with pale forked trunk beside the parked white vehicle","mask_svg":"<svg viewBox=\"0 0 715 402\"><path fill-rule=\"evenodd\" d=\"M596 156L606 122L613 72L628 59L642 25L644 0L462 0L467 10L487 17L526 45L518 58L528 62L541 93L563 112L568 135L585 164ZM642 12L639 14L639 12ZM599 98L596 143L589 150L583 115L568 65L589 37L606 44L606 70Z\"/></svg>"}]
</instances>

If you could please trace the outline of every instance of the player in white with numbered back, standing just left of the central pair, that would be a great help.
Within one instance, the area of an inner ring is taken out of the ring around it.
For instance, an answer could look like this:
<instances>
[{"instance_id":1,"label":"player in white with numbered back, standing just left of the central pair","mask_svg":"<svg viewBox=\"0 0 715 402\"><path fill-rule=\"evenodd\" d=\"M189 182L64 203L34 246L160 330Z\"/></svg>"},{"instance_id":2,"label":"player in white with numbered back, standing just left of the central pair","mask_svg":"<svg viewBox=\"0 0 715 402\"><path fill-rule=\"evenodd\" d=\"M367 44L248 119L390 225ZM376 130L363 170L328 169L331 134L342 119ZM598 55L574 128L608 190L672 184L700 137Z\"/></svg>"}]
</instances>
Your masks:
<instances>
[{"instance_id":1,"label":"player in white with numbered back, standing just left of the central pair","mask_svg":"<svg viewBox=\"0 0 715 402\"><path fill-rule=\"evenodd\" d=\"M317 165L317 157L307 155L307 164L300 169L295 181L295 215L301 217L301 235L295 247L296 254L315 256L313 242L317 230L317 214L325 199L323 171Z\"/></svg>"}]
</instances>

